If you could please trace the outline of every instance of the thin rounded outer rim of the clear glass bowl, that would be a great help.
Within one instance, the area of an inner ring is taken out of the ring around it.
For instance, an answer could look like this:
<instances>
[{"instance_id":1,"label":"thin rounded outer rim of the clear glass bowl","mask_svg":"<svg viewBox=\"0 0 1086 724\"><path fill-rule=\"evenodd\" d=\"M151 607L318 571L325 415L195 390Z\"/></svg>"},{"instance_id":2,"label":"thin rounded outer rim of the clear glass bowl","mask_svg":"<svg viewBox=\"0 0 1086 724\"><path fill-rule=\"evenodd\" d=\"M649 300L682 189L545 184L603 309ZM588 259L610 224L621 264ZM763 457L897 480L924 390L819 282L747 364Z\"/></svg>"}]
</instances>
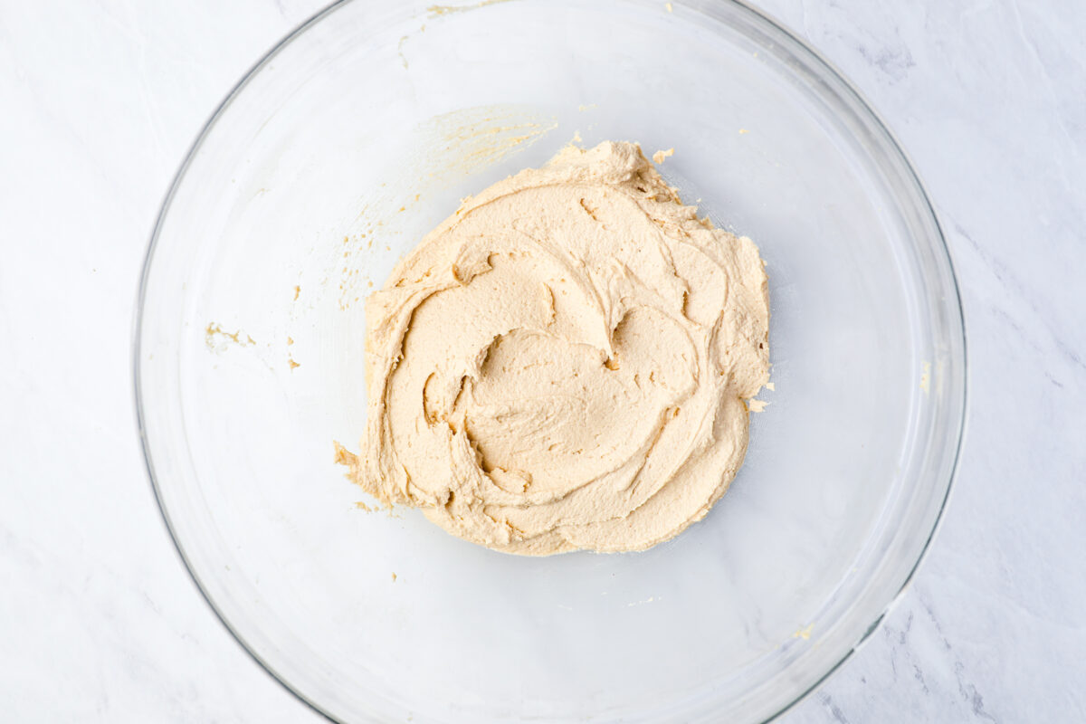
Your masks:
<instances>
[{"instance_id":1,"label":"thin rounded outer rim of the clear glass bowl","mask_svg":"<svg viewBox=\"0 0 1086 724\"><path fill-rule=\"evenodd\" d=\"M229 109L233 100L245 89L250 81L260 73L268 63L270 63L283 49L286 49L291 42L303 35L307 29L317 23L324 21L329 15L334 13L340 8L343 8L356 0L333 0L327 7L318 10L307 20L303 21L290 33L283 36L275 45L273 45L245 73L241 78L233 85L233 87L227 92L227 94L218 102L215 110L209 116L207 120L204 122L192 143L189 145L180 165L178 166L176 173L173 176L169 188L163 198L162 204L159 207L159 213L155 217L155 223L151 231L151 236L148 242L147 251L144 252L143 264L140 268L140 281L137 291L135 313L132 316L132 327L131 327L131 359L132 359L132 402L136 408L136 424L137 433L140 440L140 448L143 454L143 462L147 468L148 479L151 483L151 490L154 494L155 505L159 508L159 512L162 517L162 521L165 524L166 531L169 534L171 542L174 545L178 557L180 558L185 570L189 574L189 579L192 581L200 596L207 604L207 607L212 610L215 617L218 619L219 623L229 632L230 636L241 646L241 648L255 661L272 678L277 682L285 690L293 695L299 701L306 704L313 713L326 719L329 722L339 722L330 712L326 711L316 701L305 696L302 691L296 689L294 686L287 681L287 678L280 675L276 669L266 662L261 655L244 639L244 637L236 630L236 627L230 623L230 621L223 613L220 608L212 600L207 593L206 587L202 583L200 575L198 574L195 568L191 563L188 554L186 554L180 539L178 538L176 528L171 519L169 511L163 501L163 495L160 488L159 477L155 473L154 461L152 459L150 444L147 434L147 420L146 412L143 409L143 393L141 385L141 338L140 332L143 326L143 308L144 302L147 300L148 292L148 279L151 269L151 264L154 258L154 252L157 246L159 237L162 231L165 218L174 200L174 196L185 178L186 172L192 163L192 160L199 153L204 140L207 138L212 129L215 127L218 119L224 115L224 113ZM793 709L796 704L801 702L808 696L810 696L816 689L821 687L835 672L837 672L845 662L847 662L853 655L871 638L871 635L880 627L882 622L885 620L887 613L897 606L901 600L902 595L909 587L917 571L923 563L929 552L932 549L932 542L937 535L939 529L943 525L945 512L950 500L950 494L955 488L955 482L959 472L959 465L961 461L962 447L965 440L967 422L969 418L969 345L968 345L968 332L965 328L965 317L964 309L961 301L961 290L958 283L958 275L955 270L955 263L950 249L947 245L946 236L943 232L943 225L939 223L938 214L935 211L934 205L931 201L931 194L927 192L927 188L924 186L917 172L915 165L912 163L910 156L906 153L904 147L898 141L897 136L891 130L888 124L883 119L882 115L875 111L874 106L868 101L867 97L858 89L856 86L841 72L835 64L828 60L821 52L811 47L806 40L800 38L798 35L793 33L783 23L778 21L775 17L767 13L766 11L754 7L748 0L703 0L706 4L719 4L719 5L732 5L737 8L741 12L745 12L754 17L755 21L761 22L769 26L772 33L780 34L786 41L792 43L794 50L798 50L800 53L807 56L807 61L813 66L819 67L821 71L825 72L835 82L838 84L838 88L846 96L851 97L850 100L856 103L864 113L867 113L870 119L874 124L875 130L883 136L883 140L886 141L886 149L894 155L898 156L901 162L901 167L907 174L909 181L914 183L915 190L919 194L918 200L922 202L922 212L924 215L930 216L931 221L934 225L935 234L937 238L937 244L933 245L936 255L939 257L938 262L946 265L947 279L949 283L949 291L952 292L946 300L946 305L951 309L957 312L957 316L951 319L951 322L957 326L961 331L961 338L954 339L952 343L955 345L960 345L958 348L951 351L951 356L955 353L960 352L960 377L952 382L957 383L960 388L960 395L951 397L950 403L956 404L960 412L958 415L957 423L951 424L948 429L948 434L955 435L956 440L952 446L952 454L950 466L947 471L947 482L946 492L943 495L943 499L938 504L938 510L935 516L935 520L932 523L932 530L927 534L926 539L921 546L920 552L917 557L915 563L908 571L900 587L891 598L891 600L885 605L885 607L874 617L873 621L868 625L856 640L855 644L849 647L849 649L822 675L820 675L815 682L811 683L809 687L796 695L788 703L781 707L776 712L771 714L768 719L763 720L766 722L771 722L776 720L785 712ZM675 0L675 4L683 3L683 0ZM488 3L480 3L488 4ZM954 422L951 420L951 422Z\"/></svg>"}]
</instances>

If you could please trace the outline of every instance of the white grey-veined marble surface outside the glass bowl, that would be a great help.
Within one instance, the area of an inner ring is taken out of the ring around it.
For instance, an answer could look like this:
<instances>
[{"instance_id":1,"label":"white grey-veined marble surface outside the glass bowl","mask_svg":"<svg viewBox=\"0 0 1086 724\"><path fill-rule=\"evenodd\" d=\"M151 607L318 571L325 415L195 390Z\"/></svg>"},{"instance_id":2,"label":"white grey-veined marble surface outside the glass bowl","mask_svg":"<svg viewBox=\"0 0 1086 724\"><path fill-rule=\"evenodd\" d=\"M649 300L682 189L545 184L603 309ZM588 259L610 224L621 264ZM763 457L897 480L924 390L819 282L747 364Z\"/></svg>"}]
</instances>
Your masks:
<instances>
[{"instance_id":1,"label":"white grey-veined marble surface outside the glass bowl","mask_svg":"<svg viewBox=\"0 0 1086 724\"><path fill-rule=\"evenodd\" d=\"M321 0L0 1L0 719L305 722L201 599L129 368L204 119ZM934 549L782 717L1086 721L1086 4L761 0L867 94L958 266L971 416ZM1076 288L1077 285L1077 288Z\"/></svg>"}]
</instances>

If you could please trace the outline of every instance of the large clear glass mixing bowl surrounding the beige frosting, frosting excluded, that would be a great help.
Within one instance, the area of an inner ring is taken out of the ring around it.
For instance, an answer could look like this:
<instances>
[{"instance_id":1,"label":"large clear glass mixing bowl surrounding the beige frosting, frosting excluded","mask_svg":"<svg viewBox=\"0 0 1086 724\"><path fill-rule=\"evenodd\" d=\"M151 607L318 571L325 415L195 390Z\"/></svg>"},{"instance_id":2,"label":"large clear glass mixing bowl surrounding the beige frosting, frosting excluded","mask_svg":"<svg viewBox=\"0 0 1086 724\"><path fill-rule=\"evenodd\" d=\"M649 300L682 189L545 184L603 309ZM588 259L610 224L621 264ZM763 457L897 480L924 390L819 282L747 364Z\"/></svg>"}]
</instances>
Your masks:
<instances>
[{"instance_id":1,"label":"large clear glass mixing bowl surrounding the beige frosting, frosting excluded","mask_svg":"<svg viewBox=\"0 0 1086 724\"><path fill-rule=\"evenodd\" d=\"M239 84L163 205L135 340L148 469L207 601L342 721L747 722L877 625L950 487L947 249L857 92L722 0L342 2ZM525 559L367 511L363 301L457 200L565 143L661 172L768 263L775 391L700 523Z\"/></svg>"}]
</instances>

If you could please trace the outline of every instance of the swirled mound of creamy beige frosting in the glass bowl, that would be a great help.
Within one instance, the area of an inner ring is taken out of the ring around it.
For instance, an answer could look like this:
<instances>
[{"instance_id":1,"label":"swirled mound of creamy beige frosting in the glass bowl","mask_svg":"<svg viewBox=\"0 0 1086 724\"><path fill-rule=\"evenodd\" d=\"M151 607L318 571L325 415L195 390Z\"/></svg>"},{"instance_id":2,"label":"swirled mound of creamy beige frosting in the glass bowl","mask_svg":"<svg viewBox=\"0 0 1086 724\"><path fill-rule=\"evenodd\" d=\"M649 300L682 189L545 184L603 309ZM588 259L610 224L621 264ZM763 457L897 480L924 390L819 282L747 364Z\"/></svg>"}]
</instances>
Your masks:
<instances>
[{"instance_id":1,"label":"swirled mound of creamy beige frosting in the glass bowl","mask_svg":"<svg viewBox=\"0 0 1086 724\"><path fill-rule=\"evenodd\" d=\"M351 478L514 554L641 550L702 519L769 380L754 243L634 143L567 147L431 231L366 304Z\"/></svg>"}]
</instances>

